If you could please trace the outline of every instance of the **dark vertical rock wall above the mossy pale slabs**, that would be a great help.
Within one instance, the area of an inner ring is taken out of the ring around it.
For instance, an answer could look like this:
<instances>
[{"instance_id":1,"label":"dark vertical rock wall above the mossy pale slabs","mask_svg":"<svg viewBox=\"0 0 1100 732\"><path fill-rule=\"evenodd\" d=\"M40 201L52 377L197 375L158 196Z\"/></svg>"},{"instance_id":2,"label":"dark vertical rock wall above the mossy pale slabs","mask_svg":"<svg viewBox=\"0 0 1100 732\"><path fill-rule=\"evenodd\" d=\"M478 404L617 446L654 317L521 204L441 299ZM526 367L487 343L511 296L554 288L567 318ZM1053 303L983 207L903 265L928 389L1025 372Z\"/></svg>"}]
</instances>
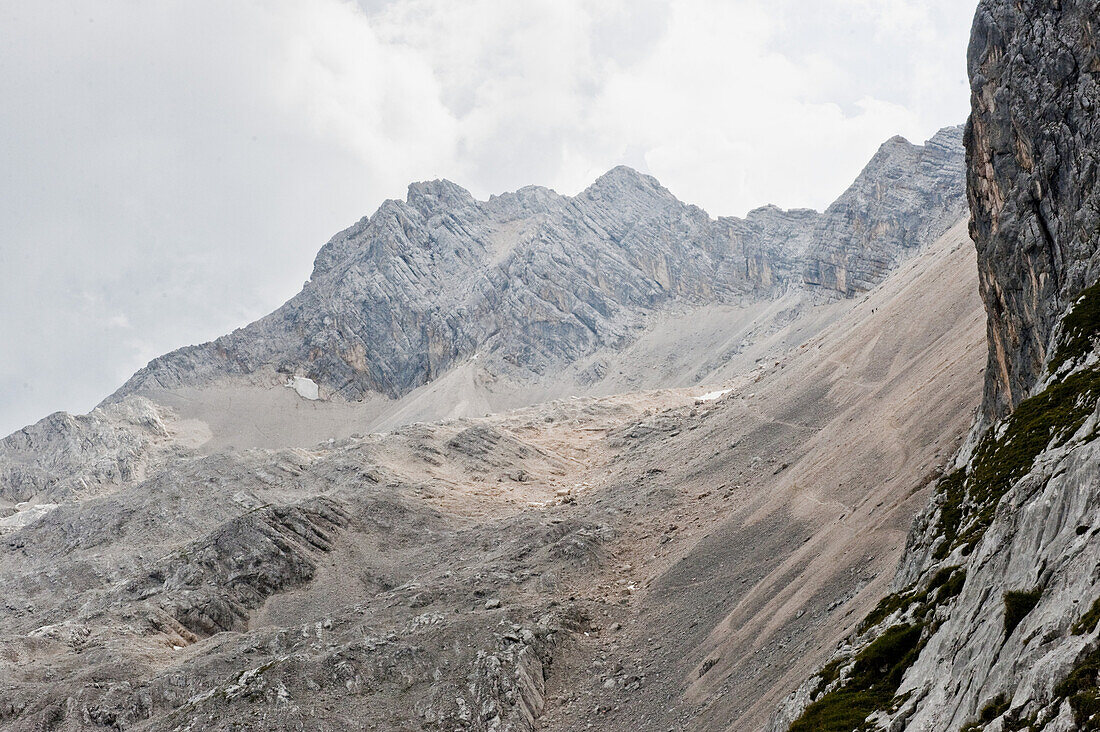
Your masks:
<instances>
[{"instance_id":1,"label":"dark vertical rock wall above the mossy pale slabs","mask_svg":"<svg viewBox=\"0 0 1100 732\"><path fill-rule=\"evenodd\" d=\"M1055 324L1097 278L1097 11L1088 0L987 1L975 19L967 177L990 418L1027 396Z\"/></svg>"}]
</instances>

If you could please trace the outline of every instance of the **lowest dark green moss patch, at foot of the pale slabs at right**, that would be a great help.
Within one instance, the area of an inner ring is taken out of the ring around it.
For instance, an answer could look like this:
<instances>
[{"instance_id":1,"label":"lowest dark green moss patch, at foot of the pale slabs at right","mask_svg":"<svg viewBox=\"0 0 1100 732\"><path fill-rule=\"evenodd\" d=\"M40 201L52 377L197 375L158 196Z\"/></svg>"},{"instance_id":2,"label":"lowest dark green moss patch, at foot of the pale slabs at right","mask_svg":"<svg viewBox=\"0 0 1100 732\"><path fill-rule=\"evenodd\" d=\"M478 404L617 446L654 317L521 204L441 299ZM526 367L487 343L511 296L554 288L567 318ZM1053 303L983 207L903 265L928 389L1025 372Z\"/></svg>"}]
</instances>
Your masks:
<instances>
[{"instance_id":1,"label":"lowest dark green moss patch, at foot of the pale slabs at right","mask_svg":"<svg viewBox=\"0 0 1100 732\"><path fill-rule=\"evenodd\" d=\"M843 686L806 707L790 732L855 732L871 730L867 718L894 701L905 669L924 647L921 624L894 625L855 658Z\"/></svg>"}]
</instances>

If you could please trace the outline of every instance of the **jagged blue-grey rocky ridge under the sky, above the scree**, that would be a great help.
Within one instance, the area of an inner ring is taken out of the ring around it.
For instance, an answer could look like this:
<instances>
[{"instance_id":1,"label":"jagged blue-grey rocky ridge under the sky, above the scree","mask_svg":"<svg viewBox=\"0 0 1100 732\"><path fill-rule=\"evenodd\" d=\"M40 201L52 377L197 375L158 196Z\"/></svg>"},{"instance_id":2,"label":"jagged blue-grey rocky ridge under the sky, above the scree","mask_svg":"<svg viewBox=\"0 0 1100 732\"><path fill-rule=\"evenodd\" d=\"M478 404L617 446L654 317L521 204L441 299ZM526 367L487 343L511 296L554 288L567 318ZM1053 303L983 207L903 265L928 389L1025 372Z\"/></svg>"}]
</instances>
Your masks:
<instances>
[{"instance_id":1,"label":"jagged blue-grey rocky ridge under the sky, above the scree","mask_svg":"<svg viewBox=\"0 0 1100 732\"><path fill-rule=\"evenodd\" d=\"M575 197L528 187L477 201L447 181L414 184L326 244L286 305L156 359L113 398L265 368L328 396L398 397L473 358L537 381L631 342L670 305L853 295L963 216L963 160L957 128L924 146L894 139L824 214L746 219L712 219L625 167Z\"/></svg>"}]
</instances>

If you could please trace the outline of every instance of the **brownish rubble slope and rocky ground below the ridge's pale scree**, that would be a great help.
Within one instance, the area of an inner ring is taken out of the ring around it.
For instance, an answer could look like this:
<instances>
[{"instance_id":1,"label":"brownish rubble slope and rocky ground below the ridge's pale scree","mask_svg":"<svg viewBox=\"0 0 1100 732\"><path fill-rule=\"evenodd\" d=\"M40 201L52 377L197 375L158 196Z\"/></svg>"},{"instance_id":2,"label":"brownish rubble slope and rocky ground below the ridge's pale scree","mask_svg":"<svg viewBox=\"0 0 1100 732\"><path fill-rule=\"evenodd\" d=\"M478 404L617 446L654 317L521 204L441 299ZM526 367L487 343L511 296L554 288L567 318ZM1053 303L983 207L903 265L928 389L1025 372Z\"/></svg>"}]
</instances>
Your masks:
<instances>
[{"instance_id":1,"label":"brownish rubble slope and rocky ground below the ridge's pale scree","mask_svg":"<svg viewBox=\"0 0 1100 732\"><path fill-rule=\"evenodd\" d=\"M713 386L308 448L208 454L139 396L40 423L6 448L66 480L0 524L0 729L760 729L979 404L961 223L847 305Z\"/></svg>"}]
</instances>

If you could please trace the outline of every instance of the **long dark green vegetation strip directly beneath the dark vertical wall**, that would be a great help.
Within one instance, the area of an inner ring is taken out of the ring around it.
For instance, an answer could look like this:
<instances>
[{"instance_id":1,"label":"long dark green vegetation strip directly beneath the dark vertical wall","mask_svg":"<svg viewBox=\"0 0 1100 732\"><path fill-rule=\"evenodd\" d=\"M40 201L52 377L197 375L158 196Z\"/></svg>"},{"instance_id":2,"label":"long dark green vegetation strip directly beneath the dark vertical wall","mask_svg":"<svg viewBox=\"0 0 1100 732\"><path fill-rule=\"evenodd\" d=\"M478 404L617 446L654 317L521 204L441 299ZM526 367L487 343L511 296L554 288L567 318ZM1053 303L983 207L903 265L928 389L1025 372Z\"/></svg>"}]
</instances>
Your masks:
<instances>
[{"instance_id":1,"label":"long dark green vegetation strip directly beneath the dark vertical wall","mask_svg":"<svg viewBox=\"0 0 1100 732\"><path fill-rule=\"evenodd\" d=\"M935 558L957 547L969 554L993 523L997 505L1048 447L1062 447L1080 429L1100 401L1100 370L1086 369L1025 400L1001 429L978 444L969 473L953 472L936 488L943 540Z\"/></svg>"}]
</instances>

